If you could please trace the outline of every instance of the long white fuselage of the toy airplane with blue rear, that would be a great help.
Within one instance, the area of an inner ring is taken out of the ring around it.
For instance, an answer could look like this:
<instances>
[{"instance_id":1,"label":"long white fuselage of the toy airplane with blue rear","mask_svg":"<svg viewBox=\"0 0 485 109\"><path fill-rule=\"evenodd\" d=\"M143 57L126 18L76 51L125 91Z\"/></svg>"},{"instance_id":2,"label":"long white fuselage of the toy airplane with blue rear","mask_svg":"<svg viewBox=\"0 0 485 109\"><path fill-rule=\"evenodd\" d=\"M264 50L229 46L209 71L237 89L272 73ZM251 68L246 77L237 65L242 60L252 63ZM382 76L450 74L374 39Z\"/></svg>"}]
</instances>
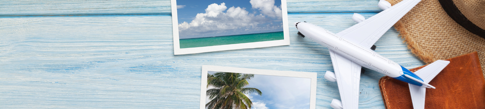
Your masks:
<instances>
[{"instance_id":1,"label":"long white fuselage of the toy airplane with blue rear","mask_svg":"<svg viewBox=\"0 0 485 109\"><path fill-rule=\"evenodd\" d=\"M372 69L391 78L396 78L407 83L423 86L423 84L413 80L417 78L422 81L421 78L405 69L398 63L379 55L370 48L362 47L359 44L356 44L311 23L298 22L295 23L295 26L305 37L308 37L312 41L327 47L329 50L332 50L335 53L338 53L339 55L344 56L363 67ZM413 77L413 79L404 76L404 74L407 74L408 77Z\"/></svg>"}]
</instances>

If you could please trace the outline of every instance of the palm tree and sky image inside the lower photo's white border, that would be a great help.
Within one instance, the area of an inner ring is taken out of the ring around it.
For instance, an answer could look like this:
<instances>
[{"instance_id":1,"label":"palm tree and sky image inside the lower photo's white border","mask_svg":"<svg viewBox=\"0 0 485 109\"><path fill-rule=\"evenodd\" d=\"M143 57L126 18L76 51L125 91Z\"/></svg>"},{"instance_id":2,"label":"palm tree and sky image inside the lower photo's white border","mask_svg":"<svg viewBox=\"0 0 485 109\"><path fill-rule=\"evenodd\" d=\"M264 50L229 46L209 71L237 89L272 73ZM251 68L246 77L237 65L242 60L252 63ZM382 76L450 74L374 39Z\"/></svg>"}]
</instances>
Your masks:
<instances>
[{"instance_id":1,"label":"palm tree and sky image inside the lower photo's white border","mask_svg":"<svg viewBox=\"0 0 485 109\"><path fill-rule=\"evenodd\" d=\"M310 109L310 86L311 78L208 71L201 97L205 109Z\"/></svg>"}]
</instances>

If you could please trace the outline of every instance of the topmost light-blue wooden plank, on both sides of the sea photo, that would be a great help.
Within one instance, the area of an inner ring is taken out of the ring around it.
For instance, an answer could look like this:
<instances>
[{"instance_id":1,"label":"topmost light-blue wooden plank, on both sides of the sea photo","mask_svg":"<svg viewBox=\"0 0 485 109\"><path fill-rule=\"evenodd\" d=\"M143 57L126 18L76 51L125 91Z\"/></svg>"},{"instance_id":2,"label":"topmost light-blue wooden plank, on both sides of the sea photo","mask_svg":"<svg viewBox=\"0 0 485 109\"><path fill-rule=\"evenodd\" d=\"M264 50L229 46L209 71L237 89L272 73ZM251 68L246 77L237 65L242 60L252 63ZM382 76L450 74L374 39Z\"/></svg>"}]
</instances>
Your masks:
<instances>
[{"instance_id":1,"label":"topmost light-blue wooden plank, on both sides of the sea photo","mask_svg":"<svg viewBox=\"0 0 485 109\"><path fill-rule=\"evenodd\" d=\"M380 12L379 0L287 0L288 13ZM0 16L171 14L170 0L8 0ZM246 7L250 9L250 7Z\"/></svg>"}]
</instances>

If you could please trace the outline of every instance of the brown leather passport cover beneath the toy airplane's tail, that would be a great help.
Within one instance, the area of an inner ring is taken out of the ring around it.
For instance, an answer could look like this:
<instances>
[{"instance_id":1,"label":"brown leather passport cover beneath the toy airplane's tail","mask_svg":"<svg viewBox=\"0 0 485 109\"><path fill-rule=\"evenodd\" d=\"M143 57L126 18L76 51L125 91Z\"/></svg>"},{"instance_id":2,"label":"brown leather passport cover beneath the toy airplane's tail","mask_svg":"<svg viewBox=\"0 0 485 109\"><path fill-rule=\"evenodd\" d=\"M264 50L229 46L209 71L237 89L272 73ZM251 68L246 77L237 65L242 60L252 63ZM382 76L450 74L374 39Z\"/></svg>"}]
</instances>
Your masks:
<instances>
[{"instance_id":1,"label":"brown leather passport cover beneath the toy airplane's tail","mask_svg":"<svg viewBox=\"0 0 485 109\"><path fill-rule=\"evenodd\" d=\"M477 52L448 59L446 66L426 89L425 109L485 109L485 79ZM410 69L415 72L426 65ZM406 82L382 77L379 88L386 109L413 109Z\"/></svg>"}]
</instances>

